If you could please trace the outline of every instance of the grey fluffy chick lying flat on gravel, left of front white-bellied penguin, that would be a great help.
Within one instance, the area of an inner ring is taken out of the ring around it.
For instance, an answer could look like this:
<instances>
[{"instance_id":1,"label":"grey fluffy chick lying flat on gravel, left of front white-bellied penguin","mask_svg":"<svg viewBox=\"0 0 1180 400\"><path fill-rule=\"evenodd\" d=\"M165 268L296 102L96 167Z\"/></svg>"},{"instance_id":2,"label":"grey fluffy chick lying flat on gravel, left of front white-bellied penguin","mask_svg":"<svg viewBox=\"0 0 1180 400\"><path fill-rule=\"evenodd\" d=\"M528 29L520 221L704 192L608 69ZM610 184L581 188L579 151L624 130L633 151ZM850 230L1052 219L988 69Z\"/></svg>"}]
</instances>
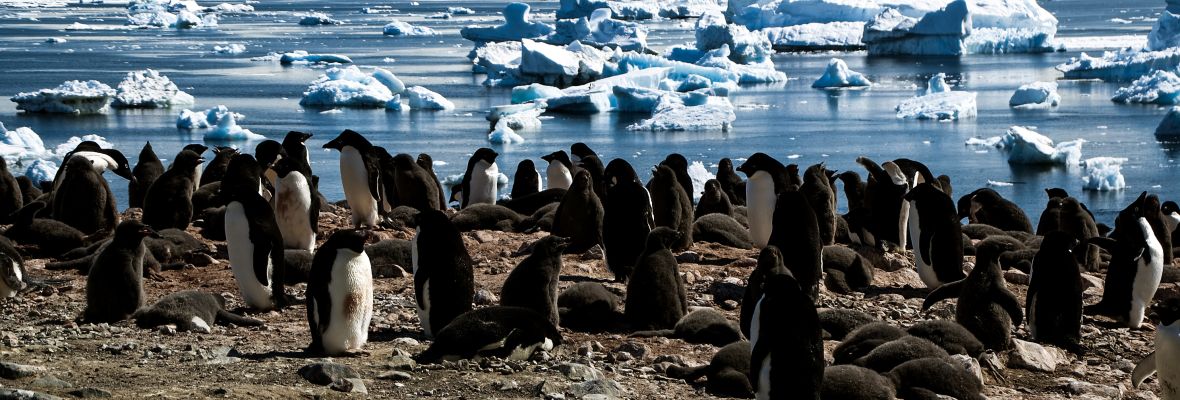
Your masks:
<instances>
[{"instance_id":1,"label":"grey fluffy chick lying flat on gravel, left of front white-bellied penguin","mask_svg":"<svg viewBox=\"0 0 1180 400\"><path fill-rule=\"evenodd\" d=\"M225 310L225 300L204 291L177 291L156 301L155 304L136 310L136 326L151 329L172 324L181 332L209 333L209 323L257 327L263 322Z\"/></svg>"}]
</instances>

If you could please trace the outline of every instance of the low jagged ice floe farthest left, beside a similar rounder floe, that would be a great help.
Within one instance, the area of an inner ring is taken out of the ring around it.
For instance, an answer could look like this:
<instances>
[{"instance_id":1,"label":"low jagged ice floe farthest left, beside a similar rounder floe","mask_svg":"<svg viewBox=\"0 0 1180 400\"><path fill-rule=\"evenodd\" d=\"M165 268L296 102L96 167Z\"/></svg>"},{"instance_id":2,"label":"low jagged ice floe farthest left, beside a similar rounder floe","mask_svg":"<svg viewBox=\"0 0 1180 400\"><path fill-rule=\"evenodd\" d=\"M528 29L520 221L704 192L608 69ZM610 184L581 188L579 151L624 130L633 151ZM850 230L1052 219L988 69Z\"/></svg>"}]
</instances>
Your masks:
<instances>
[{"instance_id":1,"label":"low jagged ice floe farthest left, beside a similar rounder floe","mask_svg":"<svg viewBox=\"0 0 1180 400\"><path fill-rule=\"evenodd\" d=\"M106 111L114 90L98 80L67 80L55 88L18 93L9 98L26 112L93 114Z\"/></svg>"}]
</instances>

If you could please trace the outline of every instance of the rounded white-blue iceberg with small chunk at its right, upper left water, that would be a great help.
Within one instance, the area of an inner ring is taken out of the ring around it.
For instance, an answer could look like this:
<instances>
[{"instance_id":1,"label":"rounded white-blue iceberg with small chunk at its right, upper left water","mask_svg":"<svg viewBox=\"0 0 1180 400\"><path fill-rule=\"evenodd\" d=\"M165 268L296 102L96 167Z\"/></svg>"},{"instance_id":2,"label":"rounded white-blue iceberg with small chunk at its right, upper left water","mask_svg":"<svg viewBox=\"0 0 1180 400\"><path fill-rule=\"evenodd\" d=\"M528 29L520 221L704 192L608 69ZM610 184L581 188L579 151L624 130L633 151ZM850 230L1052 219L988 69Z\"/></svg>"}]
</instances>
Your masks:
<instances>
[{"instance_id":1,"label":"rounded white-blue iceberg with small chunk at its right, upper left water","mask_svg":"<svg viewBox=\"0 0 1180 400\"><path fill-rule=\"evenodd\" d=\"M393 84L388 79L392 76L381 68L373 68L372 74L366 74L353 65L332 67L312 81L299 104L309 107L385 107L394 94L387 86Z\"/></svg>"}]
</instances>

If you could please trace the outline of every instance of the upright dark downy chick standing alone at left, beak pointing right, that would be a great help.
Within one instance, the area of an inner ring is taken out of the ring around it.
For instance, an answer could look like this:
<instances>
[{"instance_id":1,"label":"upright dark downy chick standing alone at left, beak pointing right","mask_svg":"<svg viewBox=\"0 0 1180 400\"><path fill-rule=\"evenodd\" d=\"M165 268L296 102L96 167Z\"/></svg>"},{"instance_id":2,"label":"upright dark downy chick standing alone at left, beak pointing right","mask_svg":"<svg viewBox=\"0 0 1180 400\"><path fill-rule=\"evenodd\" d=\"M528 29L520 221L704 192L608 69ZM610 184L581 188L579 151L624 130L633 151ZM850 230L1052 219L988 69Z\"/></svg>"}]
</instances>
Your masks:
<instances>
[{"instance_id":1,"label":"upright dark downy chick standing alone at left, beak pointing right","mask_svg":"<svg viewBox=\"0 0 1180 400\"><path fill-rule=\"evenodd\" d=\"M123 321L144 306L144 237L159 234L139 221L124 221L114 229L114 238L94 256L86 275L84 321Z\"/></svg>"}]
</instances>

